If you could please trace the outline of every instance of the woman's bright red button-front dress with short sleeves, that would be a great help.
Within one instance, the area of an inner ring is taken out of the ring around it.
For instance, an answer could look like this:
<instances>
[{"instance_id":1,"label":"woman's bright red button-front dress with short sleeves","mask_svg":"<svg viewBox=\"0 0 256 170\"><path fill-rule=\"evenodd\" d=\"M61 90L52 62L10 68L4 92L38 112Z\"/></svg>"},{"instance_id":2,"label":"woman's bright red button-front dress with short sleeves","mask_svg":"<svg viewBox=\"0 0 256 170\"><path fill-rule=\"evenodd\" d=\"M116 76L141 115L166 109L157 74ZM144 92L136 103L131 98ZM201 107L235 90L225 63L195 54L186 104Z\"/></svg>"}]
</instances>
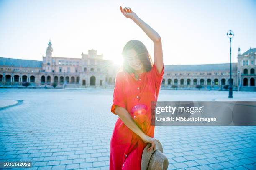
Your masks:
<instances>
[{"instance_id":1,"label":"woman's bright red button-front dress with short sleeves","mask_svg":"<svg viewBox=\"0 0 256 170\"><path fill-rule=\"evenodd\" d=\"M144 123L144 127L141 127L143 132L154 138L154 126L150 124L151 121L151 101L156 101L158 98L159 90L161 87L161 82L163 80L164 67L159 74L155 63L153 67L148 72L143 72L139 75L138 80L136 80L133 73L129 74L124 71L120 71L115 77L115 88L113 93L113 105L111 106L111 112L115 114L115 105L124 107L133 120L135 117L131 112L133 107L138 104L144 104L148 108L146 110L146 116L148 120ZM137 124L138 125L138 124ZM146 127L145 127L146 126ZM136 162L138 170L141 169L141 156L143 149L148 145L144 143L143 140L136 134L133 133L118 117L113 133L110 140L110 170L122 170L128 167L125 163L126 158L129 160L138 161ZM134 151L136 149L136 152ZM132 152L134 151L134 152ZM130 157L129 154L132 152ZM136 154L135 154L136 153ZM128 164L128 163L127 163Z\"/></svg>"}]
</instances>

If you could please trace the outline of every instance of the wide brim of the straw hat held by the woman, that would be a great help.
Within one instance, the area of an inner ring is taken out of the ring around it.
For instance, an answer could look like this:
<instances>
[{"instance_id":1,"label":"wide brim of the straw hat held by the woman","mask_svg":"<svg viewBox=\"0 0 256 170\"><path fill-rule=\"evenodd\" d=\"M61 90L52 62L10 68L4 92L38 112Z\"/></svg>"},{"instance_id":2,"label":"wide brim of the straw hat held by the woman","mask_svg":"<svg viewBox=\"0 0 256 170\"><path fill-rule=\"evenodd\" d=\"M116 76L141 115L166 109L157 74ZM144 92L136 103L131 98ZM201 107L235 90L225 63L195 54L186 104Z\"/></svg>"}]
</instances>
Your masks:
<instances>
[{"instance_id":1,"label":"wide brim of the straw hat held by the woman","mask_svg":"<svg viewBox=\"0 0 256 170\"><path fill-rule=\"evenodd\" d=\"M161 151L163 153L163 146L161 145L160 141L155 139L156 148L155 150ZM141 170L146 170L148 167L149 159L151 155L154 153L154 150L147 151L148 148L151 147L151 143L149 143L143 150L142 158L141 158Z\"/></svg>"}]
</instances>

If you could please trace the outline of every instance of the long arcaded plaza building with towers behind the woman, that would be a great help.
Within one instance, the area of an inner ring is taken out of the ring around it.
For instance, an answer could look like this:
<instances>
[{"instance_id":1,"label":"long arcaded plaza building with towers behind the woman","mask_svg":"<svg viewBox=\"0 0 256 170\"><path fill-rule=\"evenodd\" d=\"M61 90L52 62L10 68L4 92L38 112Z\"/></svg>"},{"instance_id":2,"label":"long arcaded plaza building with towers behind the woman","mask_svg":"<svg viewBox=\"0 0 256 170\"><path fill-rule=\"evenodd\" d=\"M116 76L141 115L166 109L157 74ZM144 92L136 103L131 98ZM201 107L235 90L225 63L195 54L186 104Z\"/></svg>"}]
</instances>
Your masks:
<instances>
[{"instance_id":1,"label":"long arcaded plaza building with towers behind the woman","mask_svg":"<svg viewBox=\"0 0 256 170\"><path fill-rule=\"evenodd\" d=\"M43 61L0 57L0 87L74 87L113 88L119 67L104 60L96 50L80 58L53 57L48 43ZM256 48L241 54L232 63L233 90L256 91ZM230 63L165 65L161 89L223 90L228 85Z\"/></svg>"}]
</instances>

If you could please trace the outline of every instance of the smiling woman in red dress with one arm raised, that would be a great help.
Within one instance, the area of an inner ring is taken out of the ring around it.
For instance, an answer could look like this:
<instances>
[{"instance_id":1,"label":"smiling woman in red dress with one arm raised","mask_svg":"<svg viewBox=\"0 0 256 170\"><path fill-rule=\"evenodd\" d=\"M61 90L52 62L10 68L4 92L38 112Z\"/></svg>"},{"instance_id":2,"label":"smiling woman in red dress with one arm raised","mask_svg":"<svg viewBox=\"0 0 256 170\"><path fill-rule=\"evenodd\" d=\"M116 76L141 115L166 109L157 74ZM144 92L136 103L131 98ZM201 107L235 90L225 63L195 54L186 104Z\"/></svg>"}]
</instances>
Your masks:
<instances>
[{"instance_id":1,"label":"smiling woman in red dress with one arm raised","mask_svg":"<svg viewBox=\"0 0 256 170\"><path fill-rule=\"evenodd\" d=\"M110 170L140 170L143 149L148 143L151 143L148 151L155 149L151 101L157 100L164 75L163 52L156 31L131 8L120 7L120 10L153 41L154 64L142 42L131 40L123 48L123 70L115 77L111 107L118 119L110 140Z\"/></svg>"}]
</instances>

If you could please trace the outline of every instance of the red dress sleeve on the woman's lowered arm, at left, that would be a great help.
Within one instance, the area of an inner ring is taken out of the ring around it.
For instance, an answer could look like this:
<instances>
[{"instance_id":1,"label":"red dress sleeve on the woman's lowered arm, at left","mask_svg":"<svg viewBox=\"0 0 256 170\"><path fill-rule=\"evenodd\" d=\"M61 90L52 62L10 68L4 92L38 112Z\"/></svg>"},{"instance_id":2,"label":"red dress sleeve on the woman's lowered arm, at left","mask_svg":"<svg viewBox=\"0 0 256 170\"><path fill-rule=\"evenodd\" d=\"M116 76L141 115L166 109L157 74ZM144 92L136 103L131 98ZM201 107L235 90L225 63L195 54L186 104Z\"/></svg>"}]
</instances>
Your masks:
<instances>
[{"instance_id":1,"label":"red dress sleeve on the woman's lowered arm, at left","mask_svg":"<svg viewBox=\"0 0 256 170\"><path fill-rule=\"evenodd\" d=\"M115 113L115 105L126 108L123 96L123 74L118 72L115 76L115 88L113 92L113 104L111 106L111 112Z\"/></svg>"}]
</instances>

